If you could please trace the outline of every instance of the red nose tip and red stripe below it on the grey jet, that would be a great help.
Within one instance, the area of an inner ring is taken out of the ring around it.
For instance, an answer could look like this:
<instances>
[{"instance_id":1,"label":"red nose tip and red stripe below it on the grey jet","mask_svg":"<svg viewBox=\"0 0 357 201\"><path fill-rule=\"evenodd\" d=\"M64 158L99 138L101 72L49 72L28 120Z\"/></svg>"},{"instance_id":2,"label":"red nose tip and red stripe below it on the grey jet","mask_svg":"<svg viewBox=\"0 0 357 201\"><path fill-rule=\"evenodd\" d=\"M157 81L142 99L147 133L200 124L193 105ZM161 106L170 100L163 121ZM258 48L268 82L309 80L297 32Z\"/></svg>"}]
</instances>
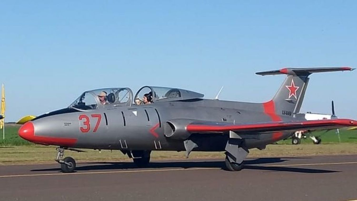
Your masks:
<instances>
[{"instance_id":1,"label":"red nose tip and red stripe below it on the grey jet","mask_svg":"<svg viewBox=\"0 0 357 201\"><path fill-rule=\"evenodd\" d=\"M20 127L19 136L27 141L46 145L72 146L77 142L75 138L35 136L35 127L31 121Z\"/></svg>"}]
</instances>

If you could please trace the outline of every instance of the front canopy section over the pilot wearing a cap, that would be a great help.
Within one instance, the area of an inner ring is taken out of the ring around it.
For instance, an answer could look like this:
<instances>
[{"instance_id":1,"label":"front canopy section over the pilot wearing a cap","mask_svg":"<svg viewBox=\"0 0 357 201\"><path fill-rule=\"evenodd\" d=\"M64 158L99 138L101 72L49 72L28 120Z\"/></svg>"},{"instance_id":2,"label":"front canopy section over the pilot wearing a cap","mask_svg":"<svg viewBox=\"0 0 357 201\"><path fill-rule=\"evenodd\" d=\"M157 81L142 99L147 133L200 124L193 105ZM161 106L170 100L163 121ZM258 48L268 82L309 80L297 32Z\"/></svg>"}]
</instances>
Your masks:
<instances>
[{"instance_id":1,"label":"front canopy section over the pilot wearing a cap","mask_svg":"<svg viewBox=\"0 0 357 201\"><path fill-rule=\"evenodd\" d=\"M85 91L69 107L93 110L108 106L130 106L132 91L129 88L105 88Z\"/></svg>"}]
</instances>

